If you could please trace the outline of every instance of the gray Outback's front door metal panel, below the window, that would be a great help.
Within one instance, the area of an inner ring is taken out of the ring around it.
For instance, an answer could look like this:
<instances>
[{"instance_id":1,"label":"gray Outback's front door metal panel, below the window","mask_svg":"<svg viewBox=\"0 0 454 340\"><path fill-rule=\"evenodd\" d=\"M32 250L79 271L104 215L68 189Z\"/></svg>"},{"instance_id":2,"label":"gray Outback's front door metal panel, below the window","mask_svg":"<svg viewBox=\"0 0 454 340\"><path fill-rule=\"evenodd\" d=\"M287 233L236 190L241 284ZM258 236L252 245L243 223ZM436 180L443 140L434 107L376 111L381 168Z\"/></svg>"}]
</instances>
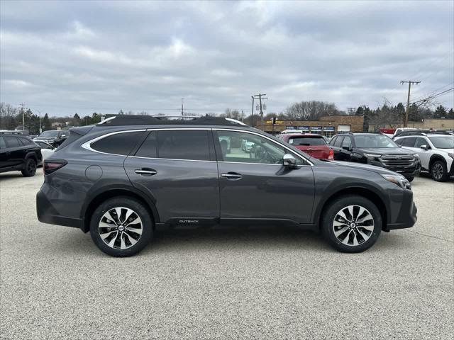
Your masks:
<instances>
[{"instance_id":1,"label":"gray Outback's front door metal panel, below the window","mask_svg":"<svg viewBox=\"0 0 454 340\"><path fill-rule=\"evenodd\" d=\"M314 203L310 166L287 169L274 164L218 162L221 220L275 218L309 223ZM227 179L222 174L239 174Z\"/></svg>"}]
</instances>

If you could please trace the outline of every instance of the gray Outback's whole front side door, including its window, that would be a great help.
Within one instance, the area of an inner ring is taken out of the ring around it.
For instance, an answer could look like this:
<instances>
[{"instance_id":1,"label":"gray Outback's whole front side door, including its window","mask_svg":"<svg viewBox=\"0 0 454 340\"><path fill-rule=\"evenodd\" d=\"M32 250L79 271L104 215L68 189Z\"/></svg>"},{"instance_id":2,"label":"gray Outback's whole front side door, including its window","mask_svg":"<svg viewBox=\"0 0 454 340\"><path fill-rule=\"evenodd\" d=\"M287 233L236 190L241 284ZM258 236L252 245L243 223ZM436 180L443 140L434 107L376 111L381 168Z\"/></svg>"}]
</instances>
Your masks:
<instances>
[{"instance_id":1,"label":"gray Outback's whole front side door, including its window","mask_svg":"<svg viewBox=\"0 0 454 340\"><path fill-rule=\"evenodd\" d=\"M309 222L314 203L311 166L297 156L299 169L282 166L284 154L292 152L253 132L220 129L214 137L221 222L243 218ZM252 145L250 150L241 148L244 141Z\"/></svg>"}]
</instances>

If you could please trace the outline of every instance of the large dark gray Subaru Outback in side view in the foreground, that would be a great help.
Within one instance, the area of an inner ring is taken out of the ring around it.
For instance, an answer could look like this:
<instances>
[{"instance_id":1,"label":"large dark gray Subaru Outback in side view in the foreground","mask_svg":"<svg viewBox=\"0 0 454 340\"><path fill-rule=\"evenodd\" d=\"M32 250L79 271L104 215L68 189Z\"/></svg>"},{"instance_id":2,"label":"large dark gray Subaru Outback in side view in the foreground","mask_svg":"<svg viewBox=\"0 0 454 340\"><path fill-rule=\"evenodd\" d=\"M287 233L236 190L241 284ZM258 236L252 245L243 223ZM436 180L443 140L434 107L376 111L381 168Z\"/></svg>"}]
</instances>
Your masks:
<instances>
[{"instance_id":1,"label":"large dark gray Subaru Outback in side view in the foreground","mask_svg":"<svg viewBox=\"0 0 454 340\"><path fill-rule=\"evenodd\" d=\"M90 232L111 256L138 253L162 227L239 223L297 225L359 252L416 222L402 175L314 159L224 118L118 115L73 128L44 171L40 222Z\"/></svg>"}]
</instances>

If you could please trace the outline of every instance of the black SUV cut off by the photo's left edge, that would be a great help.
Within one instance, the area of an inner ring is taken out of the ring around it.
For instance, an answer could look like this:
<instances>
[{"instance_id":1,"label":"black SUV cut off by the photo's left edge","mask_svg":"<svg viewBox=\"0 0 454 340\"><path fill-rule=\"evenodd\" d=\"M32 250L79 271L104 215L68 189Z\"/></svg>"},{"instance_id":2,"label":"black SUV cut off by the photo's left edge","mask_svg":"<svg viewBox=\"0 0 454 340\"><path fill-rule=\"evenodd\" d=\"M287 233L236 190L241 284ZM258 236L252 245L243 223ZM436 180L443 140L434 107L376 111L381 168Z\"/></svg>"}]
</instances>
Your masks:
<instances>
[{"instance_id":1,"label":"black SUV cut off by the photo's left edge","mask_svg":"<svg viewBox=\"0 0 454 340\"><path fill-rule=\"evenodd\" d=\"M0 134L0 172L21 171L25 177L35 176L36 166L42 161L40 147L31 138Z\"/></svg>"}]
</instances>

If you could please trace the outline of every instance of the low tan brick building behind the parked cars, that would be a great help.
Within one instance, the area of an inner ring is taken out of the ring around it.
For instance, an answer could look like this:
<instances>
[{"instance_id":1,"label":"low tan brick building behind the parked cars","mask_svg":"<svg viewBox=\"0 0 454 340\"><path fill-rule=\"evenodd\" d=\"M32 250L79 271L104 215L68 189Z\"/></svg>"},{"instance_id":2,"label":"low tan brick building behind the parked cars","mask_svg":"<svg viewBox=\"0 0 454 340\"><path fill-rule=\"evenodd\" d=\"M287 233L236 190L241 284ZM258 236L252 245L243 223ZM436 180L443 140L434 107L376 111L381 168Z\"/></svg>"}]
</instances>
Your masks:
<instances>
[{"instance_id":1,"label":"low tan brick building behind the parked cars","mask_svg":"<svg viewBox=\"0 0 454 340\"><path fill-rule=\"evenodd\" d=\"M362 132L364 117L362 115L327 115L319 120L263 120L255 128L273 135L284 130L297 130L304 133L318 133L331 137L338 132Z\"/></svg>"}]
</instances>

